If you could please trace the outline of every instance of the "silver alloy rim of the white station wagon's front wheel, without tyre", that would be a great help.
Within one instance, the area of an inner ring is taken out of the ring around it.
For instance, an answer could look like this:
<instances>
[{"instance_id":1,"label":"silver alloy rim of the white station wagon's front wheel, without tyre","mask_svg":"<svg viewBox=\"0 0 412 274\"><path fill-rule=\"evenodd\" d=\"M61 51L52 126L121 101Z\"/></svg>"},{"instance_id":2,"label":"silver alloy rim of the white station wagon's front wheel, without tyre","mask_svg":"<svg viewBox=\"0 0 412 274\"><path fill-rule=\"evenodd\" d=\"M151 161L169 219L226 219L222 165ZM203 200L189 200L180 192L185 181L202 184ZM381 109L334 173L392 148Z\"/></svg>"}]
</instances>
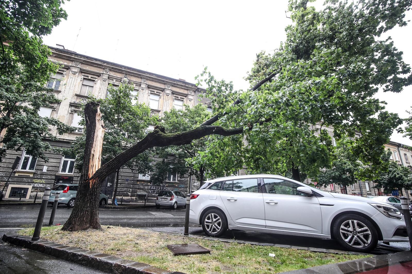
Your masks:
<instances>
[{"instance_id":1,"label":"silver alloy rim of the white station wagon's front wheel, without tyre","mask_svg":"<svg viewBox=\"0 0 412 274\"><path fill-rule=\"evenodd\" d=\"M372 241L372 233L361 221L348 220L340 226L340 236L350 246L364 248Z\"/></svg>"}]
</instances>

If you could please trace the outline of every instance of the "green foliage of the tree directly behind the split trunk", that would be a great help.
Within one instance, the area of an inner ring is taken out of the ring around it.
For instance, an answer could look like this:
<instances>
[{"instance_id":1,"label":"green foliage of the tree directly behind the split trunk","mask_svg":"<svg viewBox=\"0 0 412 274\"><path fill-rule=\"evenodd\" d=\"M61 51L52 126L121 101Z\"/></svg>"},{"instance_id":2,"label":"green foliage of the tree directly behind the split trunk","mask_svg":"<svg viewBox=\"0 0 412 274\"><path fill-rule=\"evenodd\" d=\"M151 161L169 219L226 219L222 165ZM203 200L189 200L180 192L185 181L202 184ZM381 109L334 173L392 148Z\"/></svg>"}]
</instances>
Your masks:
<instances>
[{"instance_id":1,"label":"green foliage of the tree directly behind the split trunk","mask_svg":"<svg viewBox=\"0 0 412 274\"><path fill-rule=\"evenodd\" d=\"M121 83L119 87L110 85L106 99L90 99L100 104L105 127L102 165L122 153L126 147L143 139L147 133L147 127L157 123L157 116L150 116L148 106L133 104L137 98L133 97L132 91L133 86L126 83ZM82 123L84 124L84 105L82 107L83 111L80 113L83 115ZM63 151L66 154L77 155L76 168L78 170L82 169L85 142L86 136L79 136L72 143L71 149ZM147 150L126 162L125 165L131 170L145 174L150 170L150 162L150 150Z\"/></svg>"}]
</instances>

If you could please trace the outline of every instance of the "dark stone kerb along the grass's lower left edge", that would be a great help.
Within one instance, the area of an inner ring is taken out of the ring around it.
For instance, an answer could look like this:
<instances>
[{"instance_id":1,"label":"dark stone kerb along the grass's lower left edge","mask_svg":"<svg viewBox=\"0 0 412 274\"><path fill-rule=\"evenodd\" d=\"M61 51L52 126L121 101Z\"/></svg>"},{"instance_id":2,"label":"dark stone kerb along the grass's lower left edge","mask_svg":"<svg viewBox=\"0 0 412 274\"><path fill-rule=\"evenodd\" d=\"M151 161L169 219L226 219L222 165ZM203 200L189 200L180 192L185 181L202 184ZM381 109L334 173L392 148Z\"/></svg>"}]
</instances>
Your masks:
<instances>
[{"instance_id":1,"label":"dark stone kerb along the grass's lower left edge","mask_svg":"<svg viewBox=\"0 0 412 274\"><path fill-rule=\"evenodd\" d=\"M142 262L124 260L117 256L89 251L79 247L65 246L47 240L32 241L29 236L4 234L2 240L16 246L22 246L112 274L184 274L183 272L170 272Z\"/></svg>"}]
</instances>

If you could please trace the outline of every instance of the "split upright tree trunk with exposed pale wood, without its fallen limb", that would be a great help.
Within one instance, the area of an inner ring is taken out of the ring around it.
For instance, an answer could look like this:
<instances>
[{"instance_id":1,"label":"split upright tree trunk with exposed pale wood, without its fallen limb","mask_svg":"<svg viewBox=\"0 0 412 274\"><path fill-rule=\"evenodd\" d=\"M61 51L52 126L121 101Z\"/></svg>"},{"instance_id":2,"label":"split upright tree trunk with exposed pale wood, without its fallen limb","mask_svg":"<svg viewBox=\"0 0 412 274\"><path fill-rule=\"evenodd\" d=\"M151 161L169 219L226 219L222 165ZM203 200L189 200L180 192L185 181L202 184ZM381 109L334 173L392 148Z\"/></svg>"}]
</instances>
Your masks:
<instances>
[{"instance_id":1,"label":"split upright tree trunk with exposed pale wood, without its fallen limb","mask_svg":"<svg viewBox=\"0 0 412 274\"><path fill-rule=\"evenodd\" d=\"M99 105L87 103L84 108L86 121L86 146L84 149L83 168L80 173L79 190L76 203L69 219L62 230L101 229L99 222L99 193L105 177L93 177L101 165L104 127L101 121Z\"/></svg>"}]
</instances>

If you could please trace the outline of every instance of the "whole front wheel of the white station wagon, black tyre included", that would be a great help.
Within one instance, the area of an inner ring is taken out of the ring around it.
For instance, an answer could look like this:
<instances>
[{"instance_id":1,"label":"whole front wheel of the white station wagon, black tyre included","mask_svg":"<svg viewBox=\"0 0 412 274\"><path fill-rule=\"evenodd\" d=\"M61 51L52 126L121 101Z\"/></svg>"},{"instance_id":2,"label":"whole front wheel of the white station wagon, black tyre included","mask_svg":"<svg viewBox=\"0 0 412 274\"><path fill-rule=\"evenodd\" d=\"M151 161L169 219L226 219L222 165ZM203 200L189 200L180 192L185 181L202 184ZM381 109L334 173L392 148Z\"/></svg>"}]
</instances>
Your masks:
<instances>
[{"instance_id":1,"label":"whole front wheel of the white station wagon, black tyre included","mask_svg":"<svg viewBox=\"0 0 412 274\"><path fill-rule=\"evenodd\" d=\"M347 214L333 224L333 235L345 249L356 252L369 252L378 244L378 233L368 219Z\"/></svg>"}]
</instances>

